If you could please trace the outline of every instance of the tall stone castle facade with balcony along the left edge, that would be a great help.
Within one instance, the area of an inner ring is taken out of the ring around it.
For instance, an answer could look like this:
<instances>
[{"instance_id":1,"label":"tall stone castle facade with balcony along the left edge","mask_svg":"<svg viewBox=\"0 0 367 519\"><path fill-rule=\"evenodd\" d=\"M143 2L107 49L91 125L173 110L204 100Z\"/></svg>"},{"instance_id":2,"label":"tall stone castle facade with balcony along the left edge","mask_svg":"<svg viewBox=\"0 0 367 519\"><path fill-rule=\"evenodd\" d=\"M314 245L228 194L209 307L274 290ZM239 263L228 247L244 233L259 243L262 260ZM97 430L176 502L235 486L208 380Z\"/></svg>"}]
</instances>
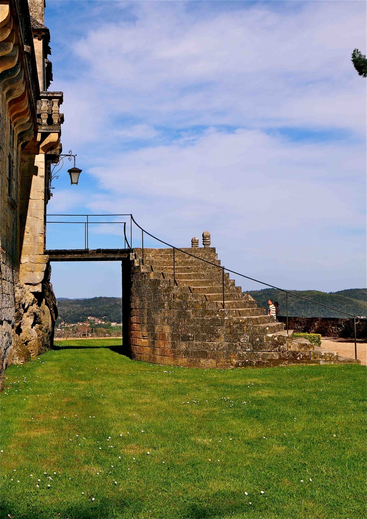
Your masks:
<instances>
[{"instance_id":1,"label":"tall stone castle facade with balcony along the left edge","mask_svg":"<svg viewBox=\"0 0 367 519\"><path fill-rule=\"evenodd\" d=\"M45 250L50 165L61 153L44 0L0 2L0 386L13 362L48 349L57 305Z\"/></svg>"}]
</instances>

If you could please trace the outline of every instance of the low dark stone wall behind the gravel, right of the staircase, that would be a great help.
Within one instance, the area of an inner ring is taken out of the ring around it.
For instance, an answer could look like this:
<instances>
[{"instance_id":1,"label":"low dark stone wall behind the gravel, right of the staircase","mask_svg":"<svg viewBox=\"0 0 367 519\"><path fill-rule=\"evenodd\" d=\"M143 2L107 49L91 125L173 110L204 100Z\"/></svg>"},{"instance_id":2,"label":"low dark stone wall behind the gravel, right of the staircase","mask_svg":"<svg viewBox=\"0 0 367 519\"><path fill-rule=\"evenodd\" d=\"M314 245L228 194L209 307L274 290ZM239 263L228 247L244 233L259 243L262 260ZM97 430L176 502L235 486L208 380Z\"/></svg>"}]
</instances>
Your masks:
<instances>
[{"instance_id":1,"label":"low dark stone wall behind the gravel, right of the staircase","mask_svg":"<svg viewBox=\"0 0 367 519\"><path fill-rule=\"evenodd\" d=\"M279 321L287 318L279 316ZM323 337L354 337L354 320L337 317L289 317L289 329L298 333L319 333ZM367 319L360 319L356 326L357 338L367 337Z\"/></svg>"}]
</instances>

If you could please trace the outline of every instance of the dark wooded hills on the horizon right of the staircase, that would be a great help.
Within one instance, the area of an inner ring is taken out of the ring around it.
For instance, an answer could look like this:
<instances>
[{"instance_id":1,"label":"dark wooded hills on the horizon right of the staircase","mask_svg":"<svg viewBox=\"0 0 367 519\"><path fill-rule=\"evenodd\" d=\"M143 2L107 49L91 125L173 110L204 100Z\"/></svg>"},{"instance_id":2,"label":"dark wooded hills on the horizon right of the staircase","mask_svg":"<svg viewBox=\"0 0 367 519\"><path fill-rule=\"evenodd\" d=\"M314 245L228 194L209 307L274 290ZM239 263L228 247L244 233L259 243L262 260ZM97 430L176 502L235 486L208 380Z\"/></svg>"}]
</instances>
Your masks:
<instances>
[{"instance_id":1,"label":"dark wooded hills on the horizon right of the staircase","mask_svg":"<svg viewBox=\"0 0 367 519\"><path fill-rule=\"evenodd\" d=\"M367 316L366 289L341 290L339 292L319 292L317 290L291 290L291 293L313 299L323 305L331 306L355 316ZM267 301L278 301L279 315L286 315L286 294L276 289L252 290L248 292L257 301L257 305L268 308ZM348 295L348 297L346 297ZM351 297L352 295L357 296ZM288 296L288 315L293 317L343 317L342 313L315 305L292 295ZM347 317L347 316L344 316Z\"/></svg>"}]
</instances>

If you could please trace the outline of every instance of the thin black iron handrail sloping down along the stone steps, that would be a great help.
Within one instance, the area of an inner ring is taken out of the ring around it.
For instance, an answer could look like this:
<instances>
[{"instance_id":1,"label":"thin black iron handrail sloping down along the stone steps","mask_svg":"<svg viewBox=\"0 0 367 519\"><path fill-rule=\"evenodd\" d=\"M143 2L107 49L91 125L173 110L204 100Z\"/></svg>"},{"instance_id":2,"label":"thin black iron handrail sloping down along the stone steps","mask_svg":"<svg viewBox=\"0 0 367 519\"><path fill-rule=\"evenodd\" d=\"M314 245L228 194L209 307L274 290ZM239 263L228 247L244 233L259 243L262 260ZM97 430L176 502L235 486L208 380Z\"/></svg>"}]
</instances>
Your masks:
<instances>
[{"instance_id":1,"label":"thin black iron handrail sloping down along the stone steps","mask_svg":"<svg viewBox=\"0 0 367 519\"><path fill-rule=\"evenodd\" d=\"M343 310L338 310L337 308L333 308L331 306L328 306L328 305L324 305L322 303L318 303L317 301L314 301L313 299L309 299L308 297L304 297L304 296L301 296L301 295L298 295L298 294L295 294L294 292L290 292L289 290L284 290L284 289L280 289L278 288L278 286L275 286L275 285L271 285L269 283L265 283L264 281L259 281L258 279L254 279L254 278L250 278L249 276L245 276L244 274L240 274L240 272L236 272L235 270L231 270L229 268L226 268L226 267L222 267L221 265L216 265L215 263L213 262L210 262L208 260L205 260L204 258L201 258L199 256L195 256L195 254L192 254L191 252L187 252L187 251L184 251L183 249L180 249L179 247L174 247L174 245L171 245L170 243L167 243L166 241L164 240L161 240L160 238L157 238L156 236L154 236L153 234L151 233L148 233L147 230L143 229L143 227L141 227L135 220L134 220L134 217L132 214L130 214L130 222L134 222L134 224L139 227L139 229L141 229L142 231L142 256L144 258L144 252L143 252L143 248L144 248L144 239L143 239L143 236L144 236L144 233L147 234L148 236L150 236L151 238L159 241L160 243L164 243L165 245L167 245L168 247L172 248L173 249L173 285L176 284L176 280L175 280L175 254L174 254L174 251L175 250L178 250L184 254L187 254L188 256L192 256L194 258L196 258L196 260L200 260L202 262L205 262L205 263L208 263L209 265L213 265L214 267L216 268L221 268L222 269L222 291L223 291L223 309L225 308L225 296L224 296L224 271L226 270L227 272L230 272L231 274L235 274L236 276L241 276L242 278L246 278L246 279L249 279L251 281L255 281L256 283L260 283L260 284L263 284L265 286L269 286L270 288L273 288L273 289L276 289L276 290L279 290L280 292L284 292L286 294L286 297L287 297L287 334L288 334L288 331L289 331L289 328L288 328L288 294L290 295L293 295L295 297L298 297L300 299L303 299L304 301L308 301L310 303L314 303L315 305L319 305L319 306L322 306L323 308L328 308L329 310L333 310L335 312L338 312L338 313L342 313L343 315L345 316L348 316L348 317L351 317L354 319L354 330L355 330L355 358L357 360L357 331L356 331L356 319L358 319L358 322L359 322L359 317L358 316L355 316L354 314L352 313L348 313L348 312L345 312ZM132 224L130 223L130 229L131 229L131 244L132 244Z\"/></svg>"}]
</instances>

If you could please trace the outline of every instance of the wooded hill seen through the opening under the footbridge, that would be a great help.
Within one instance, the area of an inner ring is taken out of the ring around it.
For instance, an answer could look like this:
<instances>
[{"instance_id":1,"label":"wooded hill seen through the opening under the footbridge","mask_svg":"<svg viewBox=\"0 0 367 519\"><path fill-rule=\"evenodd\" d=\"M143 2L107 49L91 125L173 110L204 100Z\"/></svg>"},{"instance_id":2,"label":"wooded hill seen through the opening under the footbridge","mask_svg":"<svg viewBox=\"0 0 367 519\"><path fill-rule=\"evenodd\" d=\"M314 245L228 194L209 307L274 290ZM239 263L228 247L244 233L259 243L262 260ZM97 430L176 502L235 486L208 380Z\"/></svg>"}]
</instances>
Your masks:
<instances>
[{"instance_id":1,"label":"wooded hill seen through the opening under the footbridge","mask_svg":"<svg viewBox=\"0 0 367 519\"><path fill-rule=\"evenodd\" d=\"M67 299L60 297L57 300L59 317L57 322L66 323L84 322L87 317L105 317L106 321L121 322L121 297L92 297L91 299Z\"/></svg>"}]
</instances>

